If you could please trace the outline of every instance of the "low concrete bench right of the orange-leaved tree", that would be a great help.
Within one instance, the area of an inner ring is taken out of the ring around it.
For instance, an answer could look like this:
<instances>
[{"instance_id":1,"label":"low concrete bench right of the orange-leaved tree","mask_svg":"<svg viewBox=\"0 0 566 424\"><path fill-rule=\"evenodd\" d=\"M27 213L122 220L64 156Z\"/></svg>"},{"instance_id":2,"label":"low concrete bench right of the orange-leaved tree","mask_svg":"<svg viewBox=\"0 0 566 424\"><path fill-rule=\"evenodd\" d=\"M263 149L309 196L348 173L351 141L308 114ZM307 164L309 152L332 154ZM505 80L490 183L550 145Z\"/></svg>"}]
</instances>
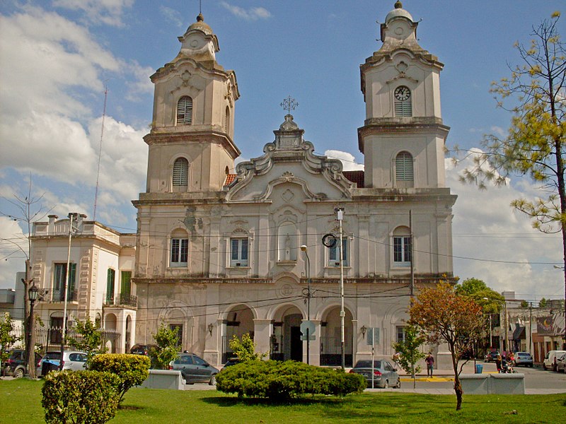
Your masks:
<instances>
[{"instance_id":1,"label":"low concrete bench right of the orange-leaved tree","mask_svg":"<svg viewBox=\"0 0 566 424\"><path fill-rule=\"evenodd\" d=\"M462 374L464 394L525 394L524 374Z\"/></svg>"}]
</instances>

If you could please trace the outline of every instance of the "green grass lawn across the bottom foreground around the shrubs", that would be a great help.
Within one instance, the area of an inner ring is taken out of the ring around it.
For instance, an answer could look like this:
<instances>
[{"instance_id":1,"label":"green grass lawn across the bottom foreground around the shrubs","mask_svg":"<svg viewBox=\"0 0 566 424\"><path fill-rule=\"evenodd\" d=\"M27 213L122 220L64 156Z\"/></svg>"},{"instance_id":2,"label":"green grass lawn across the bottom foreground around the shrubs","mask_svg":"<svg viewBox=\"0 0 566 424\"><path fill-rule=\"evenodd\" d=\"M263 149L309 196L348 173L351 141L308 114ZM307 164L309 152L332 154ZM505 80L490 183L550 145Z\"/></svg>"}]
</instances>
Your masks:
<instances>
[{"instance_id":1,"label":"green grass lawn across the bottom foreground around the shrubs","mask_svg":"<svg viewBox=\"0 0 566 424\"><path fill-rule=\"evenodd\" d=\"M41 381L0 380L0 423L43 423ZM566 395L364 393L268 404L216 391L132 389L110 423L564 423ZM516 411L516 414L510 413Z\"/></svg>"}]
</instances>

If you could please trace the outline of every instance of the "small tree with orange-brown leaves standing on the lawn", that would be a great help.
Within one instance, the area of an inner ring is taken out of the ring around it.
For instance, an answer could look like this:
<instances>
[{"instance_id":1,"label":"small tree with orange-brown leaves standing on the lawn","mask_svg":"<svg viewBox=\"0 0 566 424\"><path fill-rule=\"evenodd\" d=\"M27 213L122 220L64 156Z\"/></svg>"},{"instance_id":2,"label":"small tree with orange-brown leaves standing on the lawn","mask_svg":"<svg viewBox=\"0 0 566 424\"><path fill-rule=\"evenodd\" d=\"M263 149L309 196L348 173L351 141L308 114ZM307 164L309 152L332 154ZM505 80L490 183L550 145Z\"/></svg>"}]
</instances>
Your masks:
<instances>
[{"instance_id":1,"label":"small tree with orange-brown leaves standing on the lawn","mask_svg":"<svg viewBox=\"0 0 566 424\"><path fill-rule=\"evenodd\" d=\"M462 384L458 360L473 348L485 329L482 308L469 296L456 294L448 283L423 288L409 310L410 324L419 327L429 343L447 343L454 368L456 411L462 408Z\"/></svg>"}]
</instances>

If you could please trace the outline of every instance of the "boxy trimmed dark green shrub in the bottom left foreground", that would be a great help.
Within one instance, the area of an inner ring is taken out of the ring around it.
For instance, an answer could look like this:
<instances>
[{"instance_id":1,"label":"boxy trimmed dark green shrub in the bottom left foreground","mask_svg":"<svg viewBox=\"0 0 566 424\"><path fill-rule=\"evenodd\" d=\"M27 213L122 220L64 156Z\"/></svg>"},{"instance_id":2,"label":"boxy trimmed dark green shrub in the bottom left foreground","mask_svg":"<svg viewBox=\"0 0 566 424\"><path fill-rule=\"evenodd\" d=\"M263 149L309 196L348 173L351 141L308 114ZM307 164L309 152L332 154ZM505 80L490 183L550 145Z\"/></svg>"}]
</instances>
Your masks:
<instances>
[{"instance_id":1,"label":"boxy trimmed dark green shrub in the bottom left foreground","mask_svg":"<svg viewBox=\"0 0 566 424\"><path fill-rule=\"evenodd\" d=\"M45 422L106 423L118 408L118 384L120 379L110 372L50 372L41 389Z\"/></svg>"}]
</instances>

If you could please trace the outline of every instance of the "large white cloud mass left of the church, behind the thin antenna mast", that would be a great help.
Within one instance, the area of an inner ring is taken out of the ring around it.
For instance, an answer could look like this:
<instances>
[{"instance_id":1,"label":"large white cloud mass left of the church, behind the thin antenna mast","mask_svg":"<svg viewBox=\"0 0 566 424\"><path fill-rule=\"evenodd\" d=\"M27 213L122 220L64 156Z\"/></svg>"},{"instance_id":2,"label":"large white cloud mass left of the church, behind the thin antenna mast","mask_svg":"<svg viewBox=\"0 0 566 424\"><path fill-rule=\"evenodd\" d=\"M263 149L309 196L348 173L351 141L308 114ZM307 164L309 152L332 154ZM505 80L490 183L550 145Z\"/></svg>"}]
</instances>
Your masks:
<instances>
[{"instance_id":1,"label":"large white cloud mass left of the church, behind the thin antenna mast","mask_svg":"<svg viewBox=\"0 0 566 424\"><path fill-rule=\"evenodd\" d=\"M9 141L11 147L0 155L0 167L4 173L13 169L47 178L34 178L34 185L62 182L74 186L67 189L69 199L46 192L47 204L55 206L59 216L69 211L91 213L101 118L92 116L85 100L103 92L102 73L127 73L125 84L131 99L151 93L151 69L116 59L86 28L37 7L0 16L0 57L11 64L0 68L0 140ZM105 118L100 216L105 207L132 208L130 199L137 198L144 187L144 134L145 128L134 129L110 116ZM92 199L86 199L91 192Z\"/></svg>"}]
</instances>

